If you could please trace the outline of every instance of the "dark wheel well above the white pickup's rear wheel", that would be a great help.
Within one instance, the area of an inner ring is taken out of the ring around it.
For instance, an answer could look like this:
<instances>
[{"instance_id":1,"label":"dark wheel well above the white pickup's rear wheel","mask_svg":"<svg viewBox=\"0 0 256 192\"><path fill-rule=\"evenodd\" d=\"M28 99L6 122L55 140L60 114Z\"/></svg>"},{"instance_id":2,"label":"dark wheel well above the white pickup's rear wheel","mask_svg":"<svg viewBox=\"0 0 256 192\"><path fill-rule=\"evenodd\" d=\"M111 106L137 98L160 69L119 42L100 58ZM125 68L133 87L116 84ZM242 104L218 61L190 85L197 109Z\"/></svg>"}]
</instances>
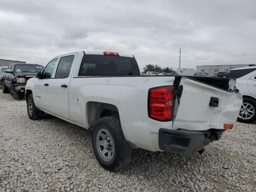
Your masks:
<instances>
[{"instance_id":1,"label":"dark wheel well above the white pickup's rear wheel","mask_svg":"<svg viewBox=\"0 0 256 192\"><path fill-rule=\"evenodd\" d=\"M95 122L106 116L117 116L119 118L118 109L116 106L102 102L87 103L87 119L89 126L94 126Z\"/></svg>"}]
</instances>

